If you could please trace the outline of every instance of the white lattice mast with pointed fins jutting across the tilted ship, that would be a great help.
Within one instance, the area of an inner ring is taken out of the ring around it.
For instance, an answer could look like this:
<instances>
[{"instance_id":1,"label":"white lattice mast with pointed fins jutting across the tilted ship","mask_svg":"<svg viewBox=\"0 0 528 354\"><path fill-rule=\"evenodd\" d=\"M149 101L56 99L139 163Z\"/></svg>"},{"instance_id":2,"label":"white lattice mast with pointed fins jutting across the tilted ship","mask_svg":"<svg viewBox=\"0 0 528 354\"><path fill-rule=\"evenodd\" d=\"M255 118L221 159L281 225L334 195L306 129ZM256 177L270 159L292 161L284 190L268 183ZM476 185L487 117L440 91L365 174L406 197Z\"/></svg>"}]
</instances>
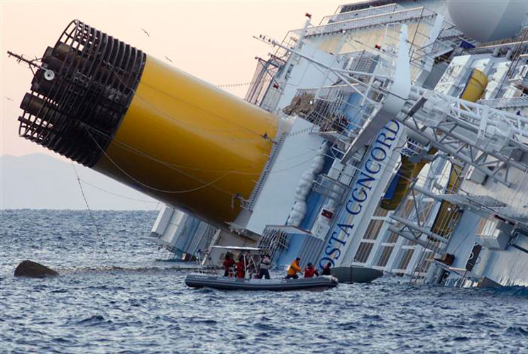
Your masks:
<instances>
[{"instance_id":1,"label":"white lattice mast with pointed fins jutting across the tilted ship","mask_svg":"<svg viewBox=\"0 0 528 354\"><path fill-rule=\"evenodd\" d=\"M422 144L414 142L414 149L421 150L416 154L427 153L426 147L436 147L444 153L442 157L456 164L470 164L505 185L510 185L510 167L528 171L527 165L518 162L519 152L528 152L528 118L412 85L407 29L405 25L401 28L398 49L383 50L383 55L389 53L387 60L378 62L382 65L373 73L330 67L294 48L271 41L272 45L334 74L339 84L362 96L363 110L372 112L361 122L359 131L353 137L348 136L353 139L348 139L351 142L341 159L343 163L371 142L381 127L395 119L422 138Z\"/></svg>"}]
</instances>

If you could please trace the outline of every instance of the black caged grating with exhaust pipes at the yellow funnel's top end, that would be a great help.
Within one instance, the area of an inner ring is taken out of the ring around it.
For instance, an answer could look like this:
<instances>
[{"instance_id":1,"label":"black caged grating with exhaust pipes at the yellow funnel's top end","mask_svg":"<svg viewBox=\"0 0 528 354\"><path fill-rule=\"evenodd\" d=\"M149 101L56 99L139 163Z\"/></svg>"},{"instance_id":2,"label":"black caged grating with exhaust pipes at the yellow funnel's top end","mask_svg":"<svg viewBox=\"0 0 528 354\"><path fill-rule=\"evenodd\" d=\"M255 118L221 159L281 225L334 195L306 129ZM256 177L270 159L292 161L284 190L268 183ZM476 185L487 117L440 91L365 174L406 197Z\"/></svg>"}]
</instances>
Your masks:
<instances>
[{"instance_id":1,"label":"black caged grating with exhaust pipes at the yellow funnel's top end","mask_svg":"<svg viewBox=\"0 0 528 354\"><path fill-rule=\"evenodd\" d=\"M75 20L48 47L21 103L18 134L85 166L113 139L146 55Z\"/></svg>"}]
</instances>

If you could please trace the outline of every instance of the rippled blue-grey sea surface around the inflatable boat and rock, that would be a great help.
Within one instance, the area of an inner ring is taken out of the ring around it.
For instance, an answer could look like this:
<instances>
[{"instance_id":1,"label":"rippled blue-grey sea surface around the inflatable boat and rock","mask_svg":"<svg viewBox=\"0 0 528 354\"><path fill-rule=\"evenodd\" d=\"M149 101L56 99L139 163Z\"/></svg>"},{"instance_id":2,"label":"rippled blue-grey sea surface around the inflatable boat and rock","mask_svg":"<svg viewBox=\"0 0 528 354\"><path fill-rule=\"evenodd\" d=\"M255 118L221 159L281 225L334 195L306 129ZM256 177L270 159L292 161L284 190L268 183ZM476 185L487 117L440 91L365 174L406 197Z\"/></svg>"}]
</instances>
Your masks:
<instances>
[{"instance_id":1,"label":"rippled blue-grey sea surface around the inflatable boat and rock","mask_svg":"<svg viewBox=\"0 0 528 354\"><path fill-rule=\"evenodd\" d=\"M528 288L193 290L141 239L156 215L94 212L103 243L85 211L2 211L1 353L528 353ZM60 276L14 278L25 259Z\"/></svg>"}]
</instances>

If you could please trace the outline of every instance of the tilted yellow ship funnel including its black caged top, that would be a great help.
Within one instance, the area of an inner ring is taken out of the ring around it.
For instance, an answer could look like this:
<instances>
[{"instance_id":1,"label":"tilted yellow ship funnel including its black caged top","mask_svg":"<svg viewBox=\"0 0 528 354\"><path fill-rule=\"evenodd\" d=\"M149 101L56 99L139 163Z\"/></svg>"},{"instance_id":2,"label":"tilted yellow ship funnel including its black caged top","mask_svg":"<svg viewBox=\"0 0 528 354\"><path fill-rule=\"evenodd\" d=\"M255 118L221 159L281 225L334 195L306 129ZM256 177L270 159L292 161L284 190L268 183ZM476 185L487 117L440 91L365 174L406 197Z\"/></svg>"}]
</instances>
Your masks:
<instances>
[{"instance_id":1,"label":"tilted yellow ship funnel including its black caged top","mask_svg":"<svg viewBox=\"0 0 528 354\"><path fill-rule=\"evenodd\" d=\"M80 21L43 63L22 103L23 137L218 227L234 221L275 115Z\"/></svg>"}]
</instances>

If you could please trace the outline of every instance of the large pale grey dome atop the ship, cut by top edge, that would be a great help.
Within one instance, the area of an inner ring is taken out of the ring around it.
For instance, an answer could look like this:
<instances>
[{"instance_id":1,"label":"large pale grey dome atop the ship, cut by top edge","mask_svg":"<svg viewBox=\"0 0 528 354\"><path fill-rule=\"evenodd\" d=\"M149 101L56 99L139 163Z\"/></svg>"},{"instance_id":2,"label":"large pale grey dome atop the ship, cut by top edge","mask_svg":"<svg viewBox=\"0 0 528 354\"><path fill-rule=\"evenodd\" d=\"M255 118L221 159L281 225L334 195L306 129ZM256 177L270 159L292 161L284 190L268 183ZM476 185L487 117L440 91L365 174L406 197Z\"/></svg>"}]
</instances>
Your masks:
<instances>
[{"instance_id":1,"label":"large pale grey dome atop the ship, cut by top edge","mask_svg":"<svg viewBox=\"0 0 528 354\"><path fill-rule=\"evenodd\" d=\"M490 42L515 36L528 12L528 1L448 0L449 15L464 35Z\"/></svg>"}]
</instances>

